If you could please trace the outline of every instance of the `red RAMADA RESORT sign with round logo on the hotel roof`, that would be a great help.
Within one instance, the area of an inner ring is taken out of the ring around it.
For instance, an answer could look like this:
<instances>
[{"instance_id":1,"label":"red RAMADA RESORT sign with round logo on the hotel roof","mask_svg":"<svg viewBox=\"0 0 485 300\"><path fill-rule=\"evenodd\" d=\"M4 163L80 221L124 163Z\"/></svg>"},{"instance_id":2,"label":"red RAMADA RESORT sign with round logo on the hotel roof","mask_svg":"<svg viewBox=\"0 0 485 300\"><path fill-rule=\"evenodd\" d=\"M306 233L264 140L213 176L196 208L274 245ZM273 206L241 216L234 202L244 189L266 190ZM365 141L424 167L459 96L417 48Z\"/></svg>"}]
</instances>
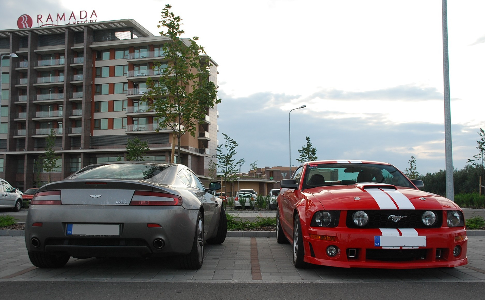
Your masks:
<instances>
[{"instance_id":1,"label":"red RAMADA RESORT sign with round logo on the hotel roof","mask_svg":"<svg viewBox=\"0 0 485 300\"><path fill-rule=\"evenodd\" d=\"M89 17L88 15L87 11L80 11L79 14L71 12L68 18L65 13L62 15L59 13L57 13L57 15L49 14L48 16L37 15L37 27L97 22L97 15L94 9ZM61 24L59 24L59 22ZM32 24L33 20L30 15L21 15L17 19L17 26L20 29L32 28Z\"/></svg>"}]
</instances>

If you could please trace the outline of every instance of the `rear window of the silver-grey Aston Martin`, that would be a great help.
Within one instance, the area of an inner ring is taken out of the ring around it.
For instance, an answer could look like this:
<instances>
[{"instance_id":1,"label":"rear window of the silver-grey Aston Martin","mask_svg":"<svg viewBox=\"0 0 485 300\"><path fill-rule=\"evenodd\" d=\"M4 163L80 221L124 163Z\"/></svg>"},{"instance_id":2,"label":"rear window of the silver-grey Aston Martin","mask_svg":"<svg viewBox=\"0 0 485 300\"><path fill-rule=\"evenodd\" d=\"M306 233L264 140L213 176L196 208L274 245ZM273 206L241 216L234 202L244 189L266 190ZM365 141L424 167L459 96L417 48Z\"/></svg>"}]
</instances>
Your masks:
<instances>
[{"instance_id":1,"label":"rear window of the silver-grey Aston Martin","mask_svg":"<svg viewBox=\"0 0 485 300\"><path fill-rule=\"evenodd\" d=\"M71 179L146 180L165 170L165 165L112 164L92 165L81 169Z\"/></svg>"}]
</instances>

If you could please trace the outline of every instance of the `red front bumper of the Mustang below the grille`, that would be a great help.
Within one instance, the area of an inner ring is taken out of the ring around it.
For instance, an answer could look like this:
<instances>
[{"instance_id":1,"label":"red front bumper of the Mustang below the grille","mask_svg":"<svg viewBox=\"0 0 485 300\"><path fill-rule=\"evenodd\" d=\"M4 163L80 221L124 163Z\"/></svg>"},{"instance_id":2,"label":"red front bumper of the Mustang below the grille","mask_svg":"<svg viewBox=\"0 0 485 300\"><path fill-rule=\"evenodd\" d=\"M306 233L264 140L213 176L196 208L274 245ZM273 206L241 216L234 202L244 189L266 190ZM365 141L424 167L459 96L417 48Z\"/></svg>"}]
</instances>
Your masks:
<instances>
[{"instance_id":1,"label":"red front bumper of the Mustang below the grille","mask_svg":"<svg viewBox=\"0 0 485 300\"><path fill-rule=\"evenodd\" d=\"M453 268L468 263L468 238L463 227L396 231L404 239L419 240L418 244L424 241L425 245L376 246L376 240L379 240L376 237L388 234L383 233L386 230L381 231L380 229L302 226L304 261L333 267L383 269ZM409 235L410 231L417 234L416 238ZM398 237L397 240L399 239ZM327 255L328 246L336 246L337 255L334 257ZM459 247L460 254L454 256L453 249L456 246Z\"/></svg>"}]
</instances>

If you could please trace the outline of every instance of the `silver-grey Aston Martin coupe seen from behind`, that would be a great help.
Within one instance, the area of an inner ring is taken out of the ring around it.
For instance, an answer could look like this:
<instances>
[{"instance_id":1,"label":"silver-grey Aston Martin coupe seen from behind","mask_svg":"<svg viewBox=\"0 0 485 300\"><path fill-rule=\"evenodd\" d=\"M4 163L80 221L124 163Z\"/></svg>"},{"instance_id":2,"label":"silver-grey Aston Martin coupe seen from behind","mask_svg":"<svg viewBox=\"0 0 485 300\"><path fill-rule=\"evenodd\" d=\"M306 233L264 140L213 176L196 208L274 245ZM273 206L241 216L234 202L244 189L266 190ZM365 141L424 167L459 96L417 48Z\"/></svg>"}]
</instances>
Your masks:
<instances>
[{"instance_id":1,"label":"silver-grey Aston Martin coupe seen from behind","mask_svg":"<svg viewBox=\"0 0 485 300\"><path fill-rule=\"evenodd\" d=\"M226 239L222 200L184 165L117 162L89 165L39 188L26 220L29 258L40 268L64 266L70 256L177 255L199 269L204 242Z\"/></svg>"}]
</instances>

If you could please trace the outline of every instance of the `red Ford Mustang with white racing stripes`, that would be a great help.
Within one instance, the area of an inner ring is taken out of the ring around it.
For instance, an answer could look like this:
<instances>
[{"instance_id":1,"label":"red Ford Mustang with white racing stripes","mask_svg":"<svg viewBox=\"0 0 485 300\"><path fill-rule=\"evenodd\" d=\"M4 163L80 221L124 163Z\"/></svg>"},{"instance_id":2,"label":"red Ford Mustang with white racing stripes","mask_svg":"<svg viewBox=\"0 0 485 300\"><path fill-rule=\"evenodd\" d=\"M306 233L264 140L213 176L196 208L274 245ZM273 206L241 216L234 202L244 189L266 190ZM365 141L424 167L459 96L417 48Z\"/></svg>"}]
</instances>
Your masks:
<instances>
[{"instance_id":1,"label":"red Ford Mustang with white racing stripes","mask_svg":"<svg viewBox=\"0 0 485 300\"><path fill-rule=\"evenodd\" d=\"M468 263L462 210L387 163L307 162L281 180L276 239L293 264L437 268Z\"/></svg>"}]
</instances>

